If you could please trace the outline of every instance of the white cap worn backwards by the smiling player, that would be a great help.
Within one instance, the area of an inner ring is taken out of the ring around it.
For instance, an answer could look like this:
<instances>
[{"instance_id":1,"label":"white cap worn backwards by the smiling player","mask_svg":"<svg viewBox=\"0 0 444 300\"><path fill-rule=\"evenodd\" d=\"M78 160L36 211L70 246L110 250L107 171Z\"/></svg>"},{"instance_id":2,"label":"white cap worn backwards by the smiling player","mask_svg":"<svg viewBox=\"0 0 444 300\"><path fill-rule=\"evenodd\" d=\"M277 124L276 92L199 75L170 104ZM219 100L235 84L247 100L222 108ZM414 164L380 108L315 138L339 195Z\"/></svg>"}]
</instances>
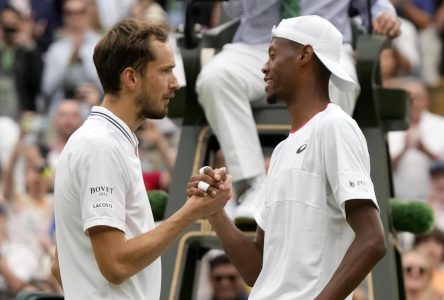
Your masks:
<instances>
[{"instance_id":1,"label":"white cap worn backwards by the smiling player","mask_svg":"<svg viewBox=\"0 0 444 300\"><path fill-rule=\"evenodd\" d=\"M330 70L331 81L342 91L351 91L356 82L339 64L342 34L329 21L319 16L283 19L273 27L272 37L284 38L302 45L311 45L319 60Z\"/></svg>"}]
</instances>

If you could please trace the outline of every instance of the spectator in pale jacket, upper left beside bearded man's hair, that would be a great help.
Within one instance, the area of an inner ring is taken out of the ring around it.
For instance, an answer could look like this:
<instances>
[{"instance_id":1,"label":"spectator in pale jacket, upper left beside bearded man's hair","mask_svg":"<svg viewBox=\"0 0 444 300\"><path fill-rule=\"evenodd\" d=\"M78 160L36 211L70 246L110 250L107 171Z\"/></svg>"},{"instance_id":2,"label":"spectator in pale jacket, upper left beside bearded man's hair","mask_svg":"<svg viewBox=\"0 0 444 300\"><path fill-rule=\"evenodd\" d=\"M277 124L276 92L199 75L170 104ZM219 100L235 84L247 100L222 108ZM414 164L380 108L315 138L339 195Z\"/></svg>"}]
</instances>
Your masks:
<instances>
[{"instance_id":1,"label":"spectator in pale jacket, upper left beside bearded man's hair","mask_svg":"<svg viewBox=\"0 0 444 300\"><path fill-rule=\"evenodd\" d=\"M92 54L100 35L92 30L87 0L67 0L63 6L63 37L45 55L42 93L47 106L72 98L85 84L100 89Z\"/></svg>"}]
</instances>

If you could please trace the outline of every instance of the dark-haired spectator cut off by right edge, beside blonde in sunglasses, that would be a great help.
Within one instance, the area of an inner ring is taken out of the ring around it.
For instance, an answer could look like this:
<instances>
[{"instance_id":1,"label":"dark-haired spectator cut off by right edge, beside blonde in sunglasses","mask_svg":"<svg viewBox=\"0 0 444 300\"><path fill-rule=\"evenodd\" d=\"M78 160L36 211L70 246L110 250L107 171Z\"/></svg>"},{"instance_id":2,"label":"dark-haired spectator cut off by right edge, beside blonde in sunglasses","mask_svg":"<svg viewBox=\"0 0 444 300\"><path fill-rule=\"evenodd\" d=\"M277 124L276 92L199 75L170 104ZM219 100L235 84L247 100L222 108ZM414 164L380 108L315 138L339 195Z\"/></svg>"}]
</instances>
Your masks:
<instances>
[{"instance_id":1,"label":"dark-haired spectator cut off by right edge, beside blonde in sunglasses","mask_svg":"<svg viewBox=\"0 0 444 300\"><path fill-rule=\"evenodd\" d=\"M429 256L433 266L433 288L444 295L444 232L435 229L431 233L416 236L413 245Z\"/></svg>"}]
</instances>

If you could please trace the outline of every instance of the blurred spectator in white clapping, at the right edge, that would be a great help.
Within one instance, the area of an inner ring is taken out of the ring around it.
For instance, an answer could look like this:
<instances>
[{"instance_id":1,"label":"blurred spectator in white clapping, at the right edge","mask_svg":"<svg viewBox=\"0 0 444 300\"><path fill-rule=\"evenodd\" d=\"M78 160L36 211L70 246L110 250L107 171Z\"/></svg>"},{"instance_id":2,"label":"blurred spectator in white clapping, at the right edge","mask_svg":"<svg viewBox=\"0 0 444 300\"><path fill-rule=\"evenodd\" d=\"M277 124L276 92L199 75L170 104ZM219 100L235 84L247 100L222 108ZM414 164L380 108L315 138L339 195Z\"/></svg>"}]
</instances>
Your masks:
<instances>
[{"instance_id":1,"label":"blurred spectator in white clapping, at the right edge","mask_svg":"<svg viewBox=\"0 0 444 300\"><path fill-rule=\"evenodd\" d=\"M425 201L430 166L444 158L444 118L428 111L429 94L418 79L393 80L388 86L406 90L411 98L410 127L388 134L395 195Z\"/></svg>"}]
</instances>

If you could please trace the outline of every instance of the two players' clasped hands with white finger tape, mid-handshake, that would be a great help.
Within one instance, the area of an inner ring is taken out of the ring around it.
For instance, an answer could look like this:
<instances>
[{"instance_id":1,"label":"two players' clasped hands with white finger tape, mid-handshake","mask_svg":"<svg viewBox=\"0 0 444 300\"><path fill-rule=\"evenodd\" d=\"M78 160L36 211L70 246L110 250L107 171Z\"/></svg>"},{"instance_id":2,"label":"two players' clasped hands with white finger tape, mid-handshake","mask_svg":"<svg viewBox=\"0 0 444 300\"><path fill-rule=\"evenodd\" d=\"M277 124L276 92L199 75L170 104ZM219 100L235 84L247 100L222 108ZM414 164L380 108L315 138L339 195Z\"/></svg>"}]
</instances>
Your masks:
<instances>
[{"instance_id":1,"label":"two players' clasped hands with white finger tape, mid-handshake","mask_svg":"<svg viewBox=\"0 0 444 300\"><path fill-rule=\"evenodd\" d=\"M205 166L190 178L187 184L189 199L185 206L190 207L195 219L209 218L223 213L231 192L231 175L227 174L226 168L213 170Z\"/></svg>"}]
</instances>

